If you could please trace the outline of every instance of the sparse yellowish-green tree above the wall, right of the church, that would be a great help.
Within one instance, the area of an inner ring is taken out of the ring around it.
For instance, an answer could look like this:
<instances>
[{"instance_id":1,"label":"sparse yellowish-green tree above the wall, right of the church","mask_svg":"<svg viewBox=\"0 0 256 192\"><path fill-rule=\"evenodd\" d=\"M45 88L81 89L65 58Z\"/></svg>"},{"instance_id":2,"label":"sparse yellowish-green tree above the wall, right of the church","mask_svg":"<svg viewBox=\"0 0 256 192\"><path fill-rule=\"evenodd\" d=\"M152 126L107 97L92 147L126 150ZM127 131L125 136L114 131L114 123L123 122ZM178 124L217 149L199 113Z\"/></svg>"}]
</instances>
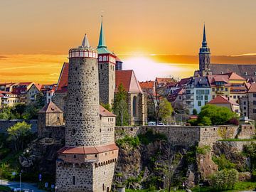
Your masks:
<instances>
[{"instance_id":1,"label":"sparse yellowish-green tree above the wall, right of the church","mask_svg":"<svg viewBox=\"0 0 256 192\"><path fill-rule=\"evenodd\" d=\"M166 98L163 98L159 105L159 117L164 123L169 121L173 111L174 109L171 107L171 103Z\"/></svg>"}]
</instances>

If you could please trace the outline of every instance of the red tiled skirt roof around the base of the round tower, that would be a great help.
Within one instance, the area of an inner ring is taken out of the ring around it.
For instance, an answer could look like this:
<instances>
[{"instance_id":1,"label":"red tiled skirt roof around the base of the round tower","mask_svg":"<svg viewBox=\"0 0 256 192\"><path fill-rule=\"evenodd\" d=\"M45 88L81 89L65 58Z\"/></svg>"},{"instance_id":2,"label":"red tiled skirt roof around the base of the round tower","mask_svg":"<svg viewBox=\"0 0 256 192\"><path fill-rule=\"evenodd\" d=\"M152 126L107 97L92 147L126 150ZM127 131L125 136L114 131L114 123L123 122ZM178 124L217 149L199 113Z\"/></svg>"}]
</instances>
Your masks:
<instances>
[{"instance_id":1,"label":"red tiled skirt roof around the base of the round tower","mask_svg":"<svg viewBox=\"0 0 256 192\"><path fill-rule=\"evenodd\" d=\"M99 154L107 151L117 150L116 144L108 144L104 146L64 146L58 151L61 154Z\"/></svg>"}]
</instances>

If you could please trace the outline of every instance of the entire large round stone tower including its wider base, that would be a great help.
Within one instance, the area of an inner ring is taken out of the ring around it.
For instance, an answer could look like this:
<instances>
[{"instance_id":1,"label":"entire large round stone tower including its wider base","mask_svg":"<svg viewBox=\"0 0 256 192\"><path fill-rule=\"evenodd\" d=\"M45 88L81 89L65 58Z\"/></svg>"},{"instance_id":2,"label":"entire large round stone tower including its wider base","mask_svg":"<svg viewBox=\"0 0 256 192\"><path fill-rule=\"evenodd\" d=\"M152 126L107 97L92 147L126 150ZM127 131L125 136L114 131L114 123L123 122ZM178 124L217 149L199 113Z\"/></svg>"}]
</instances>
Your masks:
<instances>
[{"instance_id":1,"label":"entire large round stone tower including its wider base","mask_svg":"<svg viewBox=\"0 0 256 192\"><path fill-rule=\"evenodd\" d=\"M86 35L82 46L69 50L65 147L58 151L56 163L58 191L111 189L118 148L113 125L102 126L97 57ZM114 122L109 113L103 116Z\"/></svg>"}]
</instances>

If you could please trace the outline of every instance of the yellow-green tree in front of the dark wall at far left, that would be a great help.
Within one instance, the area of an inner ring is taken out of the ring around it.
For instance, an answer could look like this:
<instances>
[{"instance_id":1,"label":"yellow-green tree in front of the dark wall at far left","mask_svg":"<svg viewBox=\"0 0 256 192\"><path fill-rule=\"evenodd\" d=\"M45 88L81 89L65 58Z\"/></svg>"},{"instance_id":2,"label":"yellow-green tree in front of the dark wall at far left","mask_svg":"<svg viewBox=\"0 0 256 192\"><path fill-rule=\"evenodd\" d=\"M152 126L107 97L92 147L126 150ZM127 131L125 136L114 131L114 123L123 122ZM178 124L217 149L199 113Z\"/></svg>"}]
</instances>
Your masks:
<instances>
[{"instance_id":1,"label":"yellow-green tree in front of the dark wall at far left","mask_svg":"<svg viewBox=\"0 0 256 192\"><path fill-rule=\"evenodd\" d=\"M28 137L31 135L31 124L26 122L18 122L14 126L7 129L9 134L9 141L14 145L14 150L18 151L24 149L24 146L29 141Z\"/></svg>"}]
</instances>

